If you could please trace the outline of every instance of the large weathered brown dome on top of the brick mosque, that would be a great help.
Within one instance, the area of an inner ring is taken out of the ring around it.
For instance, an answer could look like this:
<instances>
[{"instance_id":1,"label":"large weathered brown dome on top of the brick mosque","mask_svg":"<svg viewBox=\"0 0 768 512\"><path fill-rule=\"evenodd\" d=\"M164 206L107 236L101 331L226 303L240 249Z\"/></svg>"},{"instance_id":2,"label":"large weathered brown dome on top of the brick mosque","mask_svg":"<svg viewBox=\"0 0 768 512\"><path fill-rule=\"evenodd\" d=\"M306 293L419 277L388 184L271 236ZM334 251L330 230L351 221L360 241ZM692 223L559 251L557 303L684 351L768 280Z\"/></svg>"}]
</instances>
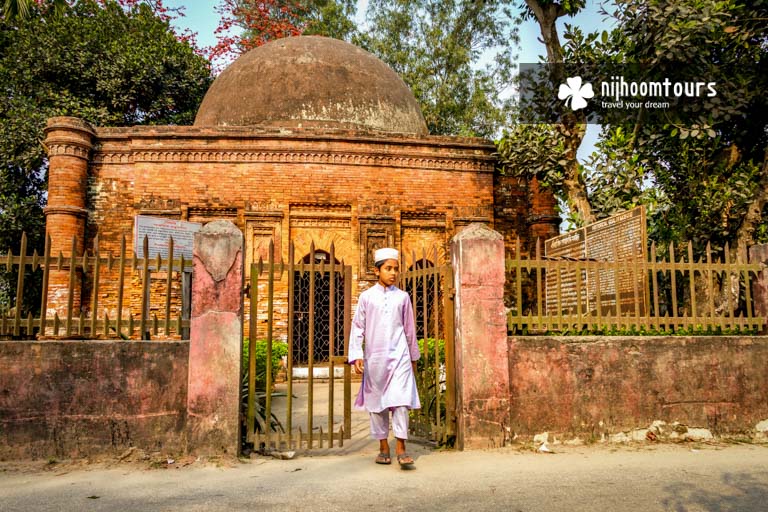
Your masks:
<instances>
[{"instance_id":1,"label":"large weathered brown dome on top of the brick mosque","mask_svg":"<svg viewBox=\"0 0 768 512\"><path fill-rule=\"evenodd\" d=\"M195 126L428 134L397 73L365 50L319 36L277 39L241 55L208 89Z\"/></svg>"}]
</instances>

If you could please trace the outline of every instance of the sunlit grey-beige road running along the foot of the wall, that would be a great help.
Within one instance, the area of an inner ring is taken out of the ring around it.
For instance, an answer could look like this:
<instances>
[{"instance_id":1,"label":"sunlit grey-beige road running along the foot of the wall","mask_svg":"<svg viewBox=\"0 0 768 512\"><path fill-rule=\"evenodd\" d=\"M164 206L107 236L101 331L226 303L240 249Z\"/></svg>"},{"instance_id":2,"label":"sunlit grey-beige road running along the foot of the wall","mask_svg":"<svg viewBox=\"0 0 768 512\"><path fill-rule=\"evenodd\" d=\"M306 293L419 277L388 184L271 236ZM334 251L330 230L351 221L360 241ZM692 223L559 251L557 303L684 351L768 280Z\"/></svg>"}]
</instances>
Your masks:
<instances>
[{"instance_id":1,"label":"sunlit grey-beige road running along the foot of the wall","mask_svg":"<svg viewBox=\"0 0 768 512\"><path fill-rule=\"evenodd\" d=\"M346 455L258 458L223 467L0 465L2 511L768 510L768 446L589 446L439 452L417 469Z\"/></svg>"}]
</instances>

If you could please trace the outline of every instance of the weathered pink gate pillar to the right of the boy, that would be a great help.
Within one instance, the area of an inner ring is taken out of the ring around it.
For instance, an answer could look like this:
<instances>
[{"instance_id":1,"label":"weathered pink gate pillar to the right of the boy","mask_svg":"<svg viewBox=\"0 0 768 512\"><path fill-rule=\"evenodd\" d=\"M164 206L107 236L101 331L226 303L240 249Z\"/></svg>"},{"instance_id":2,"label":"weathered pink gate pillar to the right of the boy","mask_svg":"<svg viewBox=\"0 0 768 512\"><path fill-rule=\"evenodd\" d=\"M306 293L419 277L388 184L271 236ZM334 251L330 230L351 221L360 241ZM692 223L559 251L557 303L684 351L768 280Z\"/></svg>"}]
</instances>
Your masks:
<instances>
[{"instance_id":1,"label":"weathered pink gate pillar to the right of the boy","mask_svg":"<svg viewBox=\"0 0 768 512\"><path fill-rule=\"evenodd\" d=\"M460 450L502 446L509 425L504 239L483 224L453 237Z\"/></svg>"}]
</instances>

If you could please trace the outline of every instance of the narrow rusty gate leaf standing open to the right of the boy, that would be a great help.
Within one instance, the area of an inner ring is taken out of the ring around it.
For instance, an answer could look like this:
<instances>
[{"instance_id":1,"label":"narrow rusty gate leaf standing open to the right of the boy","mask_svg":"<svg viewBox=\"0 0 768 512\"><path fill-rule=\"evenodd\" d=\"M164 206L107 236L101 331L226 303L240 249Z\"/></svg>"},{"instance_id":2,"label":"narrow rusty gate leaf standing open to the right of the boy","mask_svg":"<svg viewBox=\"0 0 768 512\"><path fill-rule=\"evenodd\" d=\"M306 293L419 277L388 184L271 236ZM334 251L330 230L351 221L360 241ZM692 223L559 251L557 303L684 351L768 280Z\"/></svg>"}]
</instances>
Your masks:
<instances>
[{"instance_id":1,"label":"narrow rusty gate leaf standing open to the right of the boy","mask_svg":"<svg viewBox=\"0 0 768 512\"><path fill-rule=\"evenodd\" d=\"M421 409L411 412L410 431L450 444L456 432L453 269L434 266L426 254L418 260L414 254L411 261L400 274L400 287L411 296L421 351L416 374Z\"/></svg>"}]
</instances>

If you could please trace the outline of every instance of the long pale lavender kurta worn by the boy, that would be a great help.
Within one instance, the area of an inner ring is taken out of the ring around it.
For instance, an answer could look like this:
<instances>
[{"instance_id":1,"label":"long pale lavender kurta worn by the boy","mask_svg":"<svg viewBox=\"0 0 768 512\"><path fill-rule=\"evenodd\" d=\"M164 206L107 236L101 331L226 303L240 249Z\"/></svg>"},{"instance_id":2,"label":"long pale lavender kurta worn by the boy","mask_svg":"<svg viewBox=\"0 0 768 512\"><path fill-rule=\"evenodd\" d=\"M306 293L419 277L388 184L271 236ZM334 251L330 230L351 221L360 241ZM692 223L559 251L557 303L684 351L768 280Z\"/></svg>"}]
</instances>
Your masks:
<instances>
[{"instance_id":1,"label":"long pale lavender kurta worn by the boy","mask_svg":"<svg viewBox=\"0 0 768 512\"><path fill-rule=\"evenodd\" d=\"M355 407L368 412L401 406L419 409L421 402L411 367L411 361L419 357L408 294L396 286L385 288L379 283L361 293L349 340L349 362L365 361Z\"/></svg>"}]
</instances>

